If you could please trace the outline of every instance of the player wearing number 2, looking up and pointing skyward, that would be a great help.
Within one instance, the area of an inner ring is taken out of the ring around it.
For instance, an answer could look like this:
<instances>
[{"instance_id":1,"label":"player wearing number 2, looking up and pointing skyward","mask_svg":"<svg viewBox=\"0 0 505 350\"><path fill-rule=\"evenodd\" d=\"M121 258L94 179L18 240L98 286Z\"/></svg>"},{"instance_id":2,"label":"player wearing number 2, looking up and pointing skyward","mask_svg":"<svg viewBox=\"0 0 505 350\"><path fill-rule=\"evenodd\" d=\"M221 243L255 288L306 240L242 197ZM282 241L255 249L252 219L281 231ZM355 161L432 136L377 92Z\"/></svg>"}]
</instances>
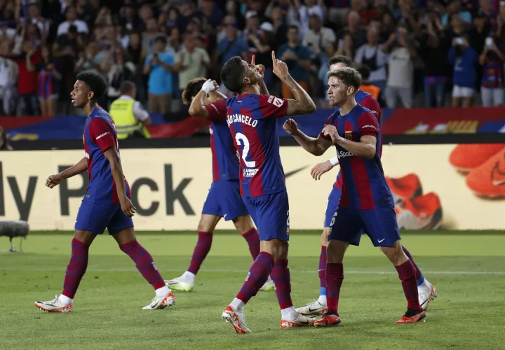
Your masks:
<instances>
[{"instance_id":1,"label":"player wearing number 2, looking up and pointing skyward","mask_svg":"<svg viewBox=\"0 0 505 350\"><path fill-rule=\"evenodd\" d=\"M290 87L295 99L260 94L262 73L254 64L232 57L222 67L221 80L235 97L227 101L227 123L240 154L241 195L260 231L260 254L235 299L222 313L238 333L250 332L243 309L268 276L274 281L281 307L281 328L313 325L292 306L288 269L289 204L279 154L276 118L313 113L316 105L272 52L274 73Z\"/></svg>"}]
</instances>

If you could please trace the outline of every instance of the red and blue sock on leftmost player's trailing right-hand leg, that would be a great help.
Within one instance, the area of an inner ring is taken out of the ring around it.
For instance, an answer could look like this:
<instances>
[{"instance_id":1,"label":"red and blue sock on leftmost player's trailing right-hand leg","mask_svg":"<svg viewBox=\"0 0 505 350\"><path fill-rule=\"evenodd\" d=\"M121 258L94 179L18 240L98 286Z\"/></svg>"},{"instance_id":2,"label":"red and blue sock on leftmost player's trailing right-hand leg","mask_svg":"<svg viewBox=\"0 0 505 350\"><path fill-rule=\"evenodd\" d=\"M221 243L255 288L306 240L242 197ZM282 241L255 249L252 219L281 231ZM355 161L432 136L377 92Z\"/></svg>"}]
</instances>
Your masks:
<instances>
[{"instance_id":1,"label":"red and blue sock on leftmost player's trailing right-hand leg","mask_svg":"<svg viewBox=\"0 0 505 350\"><path fill-rule=\"evenodd\" d=\"M140 274L144 276L144 279L146 279L155 290L165 287L165 282L163 278L161 278L161 274L156 268L151 254L149 254L136 239L135 241L121 244L119 248L121 248L121 251L128 254L131 260L135 262L135 267L137 267Z\"/></svg>"}]
</instances>

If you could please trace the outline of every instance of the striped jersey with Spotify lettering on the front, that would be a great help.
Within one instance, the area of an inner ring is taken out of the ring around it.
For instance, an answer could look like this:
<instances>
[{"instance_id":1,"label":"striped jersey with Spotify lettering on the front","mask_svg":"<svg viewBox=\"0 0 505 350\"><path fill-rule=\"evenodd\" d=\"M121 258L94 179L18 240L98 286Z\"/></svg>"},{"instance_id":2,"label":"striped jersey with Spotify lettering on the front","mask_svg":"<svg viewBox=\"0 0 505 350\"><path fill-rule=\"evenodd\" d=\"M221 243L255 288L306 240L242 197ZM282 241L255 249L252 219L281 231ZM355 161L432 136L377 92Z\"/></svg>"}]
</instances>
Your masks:
<instances>
[{"instance_id":1,"label":"striped jersey with Spotify lettering on the front","mask_svg":"<svg viewBox=\"0 0 505 350\"><path fill-rule=\"evenodd\" d=\"M393 206L393 195L386 183L379 154L382 149L381 130L372 111L357 104L345 116L333 113L327 124L335 125L339 135L351 141L360 142L361 137L366 135L377 138L372 159L358 157L335 144L343 183L339 207L367 210ZM322 137L331 140L330 137Z\"/></svg>"}]
</instances>

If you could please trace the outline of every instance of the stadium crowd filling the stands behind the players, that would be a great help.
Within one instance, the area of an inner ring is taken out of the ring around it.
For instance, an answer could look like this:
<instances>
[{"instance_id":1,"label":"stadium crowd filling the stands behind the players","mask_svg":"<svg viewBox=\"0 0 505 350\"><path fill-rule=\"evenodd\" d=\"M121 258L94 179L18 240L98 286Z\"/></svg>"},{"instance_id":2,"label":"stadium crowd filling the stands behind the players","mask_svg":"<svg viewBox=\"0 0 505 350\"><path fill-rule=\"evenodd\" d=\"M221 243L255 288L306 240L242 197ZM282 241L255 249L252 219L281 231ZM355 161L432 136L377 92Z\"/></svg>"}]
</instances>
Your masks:
<instances>
[{"instance_id":1,"label":"stadium crowd filling the stands behind the players","mask_svg":"<svg viewBox=\"0 0 505 350\"><path fill-rule=\"evenodd\" d=\"M219 80L236 55L255 55L271 94L289 98L271 50L321 107L335 54L361 64L382 106L505 99L505 1L0 0L0 20L4 116L76 114L69 93L85 70L106 78L105 108L132 80L150 113L170 116L189 80Z\"/></svg>"}]
</instances>

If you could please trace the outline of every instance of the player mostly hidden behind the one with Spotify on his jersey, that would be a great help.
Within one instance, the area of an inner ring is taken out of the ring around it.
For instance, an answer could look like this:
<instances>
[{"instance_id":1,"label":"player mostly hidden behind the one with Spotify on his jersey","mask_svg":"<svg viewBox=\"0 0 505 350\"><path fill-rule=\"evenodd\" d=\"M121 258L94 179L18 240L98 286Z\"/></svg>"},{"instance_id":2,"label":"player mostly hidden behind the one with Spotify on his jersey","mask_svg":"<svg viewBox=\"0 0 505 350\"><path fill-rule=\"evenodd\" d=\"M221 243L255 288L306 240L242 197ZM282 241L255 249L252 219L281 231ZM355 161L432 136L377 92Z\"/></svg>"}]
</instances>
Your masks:
<instances>
[{"instance_id":1,"label":"player mostly hidden behind the one with Spotify on his jersey","mask_svg":"<svg viewBox=\"0 0 505 350\"><path fill-rule=\"evenodd\" d=\"M350 57L337 55L330 58L328 62L330 70L338 69L343 66L350 66L354 68L354 62ZM379 123L379 128L382 129L382 111L379 106L377 99L371 94L364 92L363 90L358 90L356 92L356 103L361 104L361 106L369 109L374 113L377 118L377 123ZM335 112L338 112L338 107L335 107ZM382 141L382 140L381 140ZM379 157L382 155L382 147L379 149ZM319 163L312 170L311 174L314 179L321 179L321 175L325 172L329 172L335 165L338 164L338 158L334 157L326 162ZM342 190L342 176L341 172L337 174L337 181L335 181L330 195L328 196L328 202L326 204L325 221L323 234L321 235L321 254L319 255L319 265L318 265L318 275L319 275L319 298L315 302L310 302L304 307L299 307L297 311L304 315L318 315L323 314L327 303L326 303L326 247L328 246L328 235L331 232L330 223L333 214L338 209L338 203L340 200L340 193ZM424 278L421 270L417 267L410 252L403 246L403 251L412 260L412 263L416 268L416 278L417 278L417 290L419 293L419 304L423 309L428 307L429 302L436 297L436 288L429 283L427 279Z\"/></svg>"}]
</instances>

